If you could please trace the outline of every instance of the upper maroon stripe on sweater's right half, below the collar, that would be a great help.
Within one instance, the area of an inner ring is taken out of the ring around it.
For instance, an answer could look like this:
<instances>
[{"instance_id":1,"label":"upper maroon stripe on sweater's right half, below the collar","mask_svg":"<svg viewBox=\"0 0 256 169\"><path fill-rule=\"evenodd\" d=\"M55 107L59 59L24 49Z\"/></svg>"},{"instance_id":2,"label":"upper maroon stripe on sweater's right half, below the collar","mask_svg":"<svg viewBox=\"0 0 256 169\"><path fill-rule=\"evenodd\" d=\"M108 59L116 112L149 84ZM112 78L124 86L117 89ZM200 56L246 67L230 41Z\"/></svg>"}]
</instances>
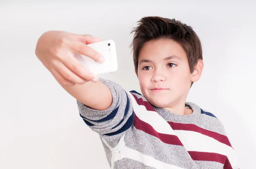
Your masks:
<instances>
[{"instance_id":1,"label":"upper maroon stripe on sweater's right half, below the collar","mask_svg":"<svg viewBox=\"0 0 256 169\"><path fill-rule=\"evenodd\" d=\"M211 138L214 138L215 140L226 144L227 146L231 146L229 139L227 138L227 136L225 135L221 135L217 132L212 132L209 130L205 130L201 127L198 127L195 124L182 124L182 123L175 123L172 121L168 121L168 123L170 124L170 126L172 127L173 130L187 130L187 131L193 131L193 132L199 132L203 135L207 135ZM233 147L232 147L233 148Z\"/></svg>"}]
</instances>

